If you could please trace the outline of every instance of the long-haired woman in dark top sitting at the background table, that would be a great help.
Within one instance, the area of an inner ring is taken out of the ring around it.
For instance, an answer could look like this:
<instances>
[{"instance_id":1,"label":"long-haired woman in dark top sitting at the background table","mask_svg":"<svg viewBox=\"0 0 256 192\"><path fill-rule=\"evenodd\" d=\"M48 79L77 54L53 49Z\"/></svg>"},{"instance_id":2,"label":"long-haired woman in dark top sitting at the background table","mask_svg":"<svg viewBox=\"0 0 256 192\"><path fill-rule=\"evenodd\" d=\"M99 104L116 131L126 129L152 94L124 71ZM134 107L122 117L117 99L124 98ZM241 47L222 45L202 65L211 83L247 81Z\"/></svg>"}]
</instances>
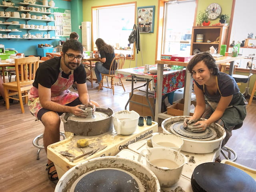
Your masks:
<instances>
[{"instance_id":1,"label":"long-haired woman in dark top sitting at the background table","mask_svg":"<svg viewBox=\"0 0 256 192\"><path fill-rule=\"evenodd\" d=\"M106 44L104 40L101 38L98 38L95 44L98 48L99 53L94 54L94 57L100 60L100 62L96 62L95 64L95 75L96 75L98 84L100 84L102 80L101 73L103 74L109 73L110 64L113 58L115 57L115 52L114 52L114 48L111 45ZM99 87L97 86L97 89L98 88Z\"/></svg>"}]
</instances>

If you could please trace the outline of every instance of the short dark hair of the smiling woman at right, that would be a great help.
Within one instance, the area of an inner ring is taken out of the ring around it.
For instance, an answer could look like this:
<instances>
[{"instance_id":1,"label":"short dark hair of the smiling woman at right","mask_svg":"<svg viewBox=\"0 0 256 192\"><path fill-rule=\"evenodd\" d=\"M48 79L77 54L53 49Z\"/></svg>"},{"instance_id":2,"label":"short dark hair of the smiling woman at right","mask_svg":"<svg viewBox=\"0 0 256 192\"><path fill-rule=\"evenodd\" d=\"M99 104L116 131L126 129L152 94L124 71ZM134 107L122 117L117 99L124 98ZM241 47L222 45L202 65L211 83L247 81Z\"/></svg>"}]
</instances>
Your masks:
<instances>
[{"instance_id":1,"label":"short dark hair of the smiling woman at right","mask_svg":"<svg viewBox=\"0 0 256 192\"><path fill-rule=\"evenodd\" d=\"M190 73L192 73L192 69L193 67L200 61L203 61L206 66L208 67L208 69L212 69L212 74L213 75L217 75L219 68L216 65L216 60L213 58L213 56L210 53L207 52L202 52L202 53L198 53L196 54L189 62L188 62L188 66L187 69Z\"/></svg>"}]
</instances>

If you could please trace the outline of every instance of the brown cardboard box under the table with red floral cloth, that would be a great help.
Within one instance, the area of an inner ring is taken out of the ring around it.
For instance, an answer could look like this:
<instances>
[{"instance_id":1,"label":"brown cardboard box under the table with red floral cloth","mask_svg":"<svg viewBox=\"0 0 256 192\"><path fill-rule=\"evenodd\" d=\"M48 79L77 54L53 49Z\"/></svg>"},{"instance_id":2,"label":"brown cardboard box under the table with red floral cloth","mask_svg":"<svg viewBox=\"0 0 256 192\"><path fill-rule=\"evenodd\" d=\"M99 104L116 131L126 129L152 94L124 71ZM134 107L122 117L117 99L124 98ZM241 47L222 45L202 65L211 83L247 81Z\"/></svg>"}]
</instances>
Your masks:
<instances>
[{"instance_id":1,"label":"brown cardboard box under the table with red floral cloth","mask_svg":"<svg viewBox=\"0 0 256 192\"><path fill-rule=\"evenodd\" d=\"M130 93L131 96L131 93ZM132 101L141 103L141 104L146 104L148 105L148 102L146 100L146 92L144 91L140 91L140 90L134 90L133 92L133 96L131 98ZM154 98L154 94L148 94L148 100L150 102L150 105L152 106L153 110L155 110L155 98ZM147 106L142 106L136 103L129 103L129 110L134 110L136 111L138 114L140 114L140 116L153 116L151 110L149 107Z\"/></svg>"}]
</instances>

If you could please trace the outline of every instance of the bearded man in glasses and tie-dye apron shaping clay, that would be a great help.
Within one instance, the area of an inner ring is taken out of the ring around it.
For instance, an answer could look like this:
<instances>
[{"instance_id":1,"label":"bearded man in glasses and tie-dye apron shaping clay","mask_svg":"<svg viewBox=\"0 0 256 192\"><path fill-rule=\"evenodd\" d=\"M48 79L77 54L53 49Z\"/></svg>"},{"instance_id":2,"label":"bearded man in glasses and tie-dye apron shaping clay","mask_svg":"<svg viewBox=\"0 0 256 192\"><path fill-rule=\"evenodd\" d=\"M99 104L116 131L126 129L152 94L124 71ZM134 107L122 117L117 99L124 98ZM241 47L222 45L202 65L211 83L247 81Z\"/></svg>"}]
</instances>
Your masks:
<instances>
[{"instance_id":1,"label":"bearded man in glasses and tie-dye apron shaping clay","mask_svg":"<svg viewBox=\"0 0 256 192\"><path fill-rule=\"evenodd\" d=\"M28 93L30 112L44 124L44 148L60 141L60 115L64 112L78 117L87 116L85 107L93 112L96 102L90 101L86 85L86 72L81 65L83 46L76 40L67 40L62 46L61 57L40 64L33 87ZM78 94L68 88L77 82ZM46 170L51 181L58 181L53 162L48 160Z\"/></svg>"}]
</instances>

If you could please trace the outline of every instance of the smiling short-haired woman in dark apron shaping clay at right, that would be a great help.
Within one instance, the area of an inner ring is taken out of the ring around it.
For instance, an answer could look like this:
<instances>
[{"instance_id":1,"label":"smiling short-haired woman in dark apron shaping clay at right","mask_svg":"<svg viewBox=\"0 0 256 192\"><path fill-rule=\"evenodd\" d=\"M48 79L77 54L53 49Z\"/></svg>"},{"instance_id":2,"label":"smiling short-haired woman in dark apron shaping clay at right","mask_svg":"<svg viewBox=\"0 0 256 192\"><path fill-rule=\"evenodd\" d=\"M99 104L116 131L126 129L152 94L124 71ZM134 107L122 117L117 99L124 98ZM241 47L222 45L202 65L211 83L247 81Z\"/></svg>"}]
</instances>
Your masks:
<instances>
[{"instance_id":1,"label":"smiling short-haired woman in dark apron shaping clay at right","mask_svg":"<svg viewBox=\"0 0 256 192\"><path fill-rule=\"evenodd\" d=\"M246 117L246 100L240 93L234 78L219 72L211 54L203 52L195 55L187 69L194 79L196 107L194 115L184 119L184 127L194 123L192 132L203 132L213 122L226 130L226 144L234 127L241 127ZM200 117L205 121L197 121Z\"/></svg>"}]
</instances>

